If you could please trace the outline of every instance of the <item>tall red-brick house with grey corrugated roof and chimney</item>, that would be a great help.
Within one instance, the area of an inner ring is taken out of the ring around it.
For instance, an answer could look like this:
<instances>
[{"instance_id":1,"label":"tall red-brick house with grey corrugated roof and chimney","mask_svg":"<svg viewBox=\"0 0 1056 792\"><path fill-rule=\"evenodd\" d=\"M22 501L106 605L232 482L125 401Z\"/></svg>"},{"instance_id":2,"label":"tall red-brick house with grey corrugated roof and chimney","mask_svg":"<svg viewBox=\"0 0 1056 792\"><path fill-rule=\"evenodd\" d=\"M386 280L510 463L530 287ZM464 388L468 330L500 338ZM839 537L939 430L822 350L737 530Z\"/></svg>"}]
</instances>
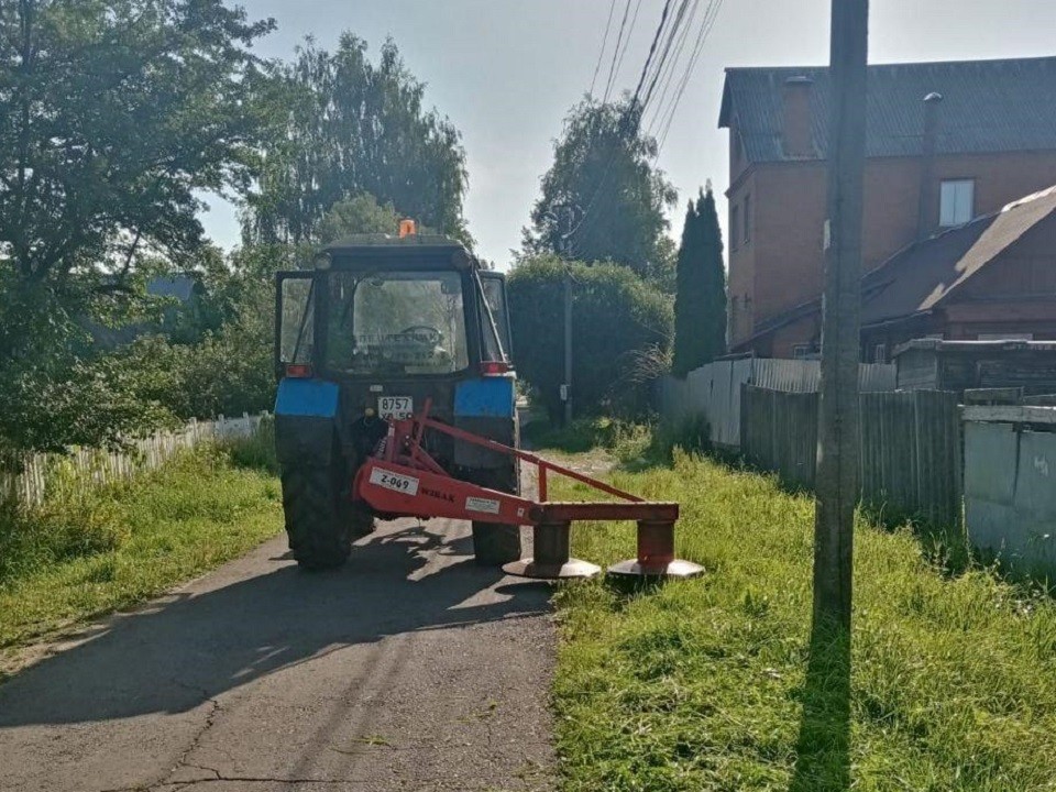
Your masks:
<instances>
[{"instance_id":1,"label":"tall red-brick house with grey corrugated roof and chimney","mask_svg":"<svg viewBox=\"0 0 1056 792\"><path fill-rule=\"evenodd\" d=\"M870 66L868 79L864 273L1056 185L1056 57ZM828 96L824 67L726 70L734 352L816 350Z\"/></svg>"}]
</instances>

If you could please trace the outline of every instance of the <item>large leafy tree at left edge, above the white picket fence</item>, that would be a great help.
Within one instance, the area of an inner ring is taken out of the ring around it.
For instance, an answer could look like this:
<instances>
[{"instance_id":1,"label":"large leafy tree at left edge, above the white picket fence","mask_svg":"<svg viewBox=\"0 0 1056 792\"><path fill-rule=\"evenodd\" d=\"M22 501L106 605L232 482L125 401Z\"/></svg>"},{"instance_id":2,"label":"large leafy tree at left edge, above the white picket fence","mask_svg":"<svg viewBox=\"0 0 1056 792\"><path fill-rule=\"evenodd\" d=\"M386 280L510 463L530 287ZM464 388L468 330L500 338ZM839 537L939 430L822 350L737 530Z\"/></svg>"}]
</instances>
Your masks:
<instances>
[{"instance_id":1,"label":"large leafy tree at left edge, above the white picket fence","mask_svg":"<svg viewBox=\"0 0 1056 792\"><path fill-rule=\"evenodd\" d=\"M0 3L0 438L136 431L135 372L87 320L139 310L144 260L201 245L201 190L249 185L267 117L250 23L221 0Z\"/></svg>"}]
</instances>

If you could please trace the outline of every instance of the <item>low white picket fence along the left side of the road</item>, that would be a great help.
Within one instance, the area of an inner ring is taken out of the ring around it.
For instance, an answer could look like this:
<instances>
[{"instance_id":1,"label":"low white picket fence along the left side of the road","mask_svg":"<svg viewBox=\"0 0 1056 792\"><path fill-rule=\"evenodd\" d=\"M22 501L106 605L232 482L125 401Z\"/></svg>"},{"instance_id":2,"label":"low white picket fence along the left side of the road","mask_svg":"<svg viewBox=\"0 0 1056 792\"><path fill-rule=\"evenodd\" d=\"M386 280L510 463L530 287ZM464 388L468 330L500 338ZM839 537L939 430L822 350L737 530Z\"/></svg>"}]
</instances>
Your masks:
<instances>
[{"instance_id":1,"label":"low white picket fence along the left side of the road","mask_svg":"<svg viewBox=\"0 0 1056 792\"><path fill-rule=\"evenodd\" d=\"M0 470L0 497L14 498L24 506L44 501L48 486L95 487L136 473L160 468L182 450L202 440L250 437L267 415L243 414L241 418L219 416L216 420L191 420L178 431L158 432L135 440L128 449L107 451L75 448L67 454L34 453L21 457L18 473Z\"/></svg>"}]
</instances>

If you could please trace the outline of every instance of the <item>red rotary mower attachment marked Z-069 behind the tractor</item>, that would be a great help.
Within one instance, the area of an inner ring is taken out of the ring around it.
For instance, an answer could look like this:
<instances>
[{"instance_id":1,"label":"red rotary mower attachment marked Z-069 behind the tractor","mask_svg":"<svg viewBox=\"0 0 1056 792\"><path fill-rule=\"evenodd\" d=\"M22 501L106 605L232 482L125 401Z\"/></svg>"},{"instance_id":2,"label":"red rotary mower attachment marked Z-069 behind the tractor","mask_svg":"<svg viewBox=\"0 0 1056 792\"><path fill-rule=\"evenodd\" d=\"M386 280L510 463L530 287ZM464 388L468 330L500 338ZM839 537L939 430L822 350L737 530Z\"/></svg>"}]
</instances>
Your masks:
<instances>
[{"instance_id":1,"label":"red rotary mower attachment marked Z-069 behind the tractor","mask_svg":"<svg viewBox=\"0 0 1056 792\"><path fill-rule=\"evenodd\" d=\"M642 501L535 454L440 424L429 418L430 406L427 399L420 414L389 421L388 435L378 451L356 473L353 497L388 515L532 526L534 558L503 566L509 574L525 578L587 578L601 571L592 563L570 558L569 534L573 520L634 520L638 524L638 557L610 566L609 572L614 574L688 578L704 571L697 564L674 558L676 503ZM535 464L539 470L539 502L454 479L422 448L426 429ZM547 501L549 472L587 484L619 501L550 503Z\"/></svg>"}]
</instances>

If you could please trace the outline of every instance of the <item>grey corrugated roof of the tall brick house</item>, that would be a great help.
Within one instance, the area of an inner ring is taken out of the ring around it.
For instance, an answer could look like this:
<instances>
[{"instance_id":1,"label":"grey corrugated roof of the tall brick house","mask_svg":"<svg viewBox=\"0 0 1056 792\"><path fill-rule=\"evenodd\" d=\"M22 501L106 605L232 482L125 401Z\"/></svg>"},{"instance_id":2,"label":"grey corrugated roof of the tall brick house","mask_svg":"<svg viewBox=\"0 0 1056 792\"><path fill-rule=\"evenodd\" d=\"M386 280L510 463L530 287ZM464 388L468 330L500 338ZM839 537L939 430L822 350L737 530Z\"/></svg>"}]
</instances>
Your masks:
<instances>
[{"instance_id":1,"label":"grey corrugated roof of the tall brick house","mask_svg":"<svg viewBox=\"0 0 1056 792\"><path fill-rule=\"evenodd\" d=\"M751 162L788 160L781 144L782 94L792 77L814 81L811 130L817 158L828 146L827 67L727 68L718 125L736 117ZM1056 57L887 64L868 74L866 151L919 156L924 97L943 96L937 154L1056 148Z\"/></svg>"}]
</instances>

